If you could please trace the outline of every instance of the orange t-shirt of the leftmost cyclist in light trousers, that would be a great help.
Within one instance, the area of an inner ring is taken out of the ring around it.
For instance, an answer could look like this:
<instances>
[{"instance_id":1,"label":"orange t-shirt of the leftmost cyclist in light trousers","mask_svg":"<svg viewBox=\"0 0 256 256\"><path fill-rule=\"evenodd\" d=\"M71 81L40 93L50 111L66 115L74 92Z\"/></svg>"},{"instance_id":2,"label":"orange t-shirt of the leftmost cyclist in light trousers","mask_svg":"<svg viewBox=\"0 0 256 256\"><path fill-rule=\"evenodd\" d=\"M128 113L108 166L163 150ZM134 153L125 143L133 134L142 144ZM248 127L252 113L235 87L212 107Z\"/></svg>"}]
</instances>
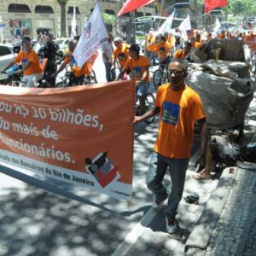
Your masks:
<instances>
[{"instance_id":1,"label":"orange t-shirt of the leftmost cyclist in light trousers","mask_svg":"<svg viewBox=\"0 0 256 256\"><path fill-rule=\"evenodd\" d=\"M24 75L30 76L34 73L42 73L38 55L33 49L31 49L28 54L21 50L20 53L15 57L16 63L26 64L28 61L31 61L32 63L26 68Z\"/></svg>"}]
</instances>

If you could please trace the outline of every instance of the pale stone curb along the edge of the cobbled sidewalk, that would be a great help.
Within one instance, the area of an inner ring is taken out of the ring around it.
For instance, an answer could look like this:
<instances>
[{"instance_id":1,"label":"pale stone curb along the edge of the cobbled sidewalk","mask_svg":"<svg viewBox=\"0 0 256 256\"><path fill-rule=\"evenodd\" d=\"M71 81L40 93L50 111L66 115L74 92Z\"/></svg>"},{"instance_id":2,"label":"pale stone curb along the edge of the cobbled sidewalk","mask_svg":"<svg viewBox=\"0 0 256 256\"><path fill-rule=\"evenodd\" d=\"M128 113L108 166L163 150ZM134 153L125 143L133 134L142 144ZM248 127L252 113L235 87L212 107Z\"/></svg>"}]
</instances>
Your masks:
<instances>
[{"instance_id":1,"label":"pale stone curb along the edge of the cobbled sidewalk","mask_svg":"<svg viewBox=\"0 0 256 256\"><path fill-rule=\"evenodd\" d=\"M227 196L232 189L236 180L237 168L226 168L222 173L216 190L212 193L209 201L198 223L195 225L194 230L191 232L188 241L185 244L185 252L189 253L189 250L201 249L206 250L207 245L212 236L220 212L222 212ZM203 236L202 236L203 230Z\"/></svg>"}]
</instances>

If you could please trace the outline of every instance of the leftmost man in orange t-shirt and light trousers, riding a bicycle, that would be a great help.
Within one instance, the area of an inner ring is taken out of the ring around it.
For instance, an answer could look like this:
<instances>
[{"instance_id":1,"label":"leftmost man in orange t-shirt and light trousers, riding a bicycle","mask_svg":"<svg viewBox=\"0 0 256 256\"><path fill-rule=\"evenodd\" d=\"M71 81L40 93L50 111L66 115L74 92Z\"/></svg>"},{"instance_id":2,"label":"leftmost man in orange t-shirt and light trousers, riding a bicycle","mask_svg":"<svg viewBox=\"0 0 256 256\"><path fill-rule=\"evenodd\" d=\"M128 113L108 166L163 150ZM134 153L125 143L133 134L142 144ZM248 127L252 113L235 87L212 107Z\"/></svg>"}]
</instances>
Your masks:
<instances>
[{"instance_id":1,"label":"leftmost man in orange t-shirt and light trousers, riding a bicycle","mask_svg":"<svg viewBox=\"0 0 256 256\"><path fill-rule=\"evenodd\" d=\"M15 60L11 61L3 71L6 71L9 67L15 65L15 63L21 63L24 76L20 81L19 87L36 87L38 80L43 77L38 55L32 49L30 38L23 38L21 46L22 50L20 50L20 53L15 57Z\"/></svg>"}]
</instances>

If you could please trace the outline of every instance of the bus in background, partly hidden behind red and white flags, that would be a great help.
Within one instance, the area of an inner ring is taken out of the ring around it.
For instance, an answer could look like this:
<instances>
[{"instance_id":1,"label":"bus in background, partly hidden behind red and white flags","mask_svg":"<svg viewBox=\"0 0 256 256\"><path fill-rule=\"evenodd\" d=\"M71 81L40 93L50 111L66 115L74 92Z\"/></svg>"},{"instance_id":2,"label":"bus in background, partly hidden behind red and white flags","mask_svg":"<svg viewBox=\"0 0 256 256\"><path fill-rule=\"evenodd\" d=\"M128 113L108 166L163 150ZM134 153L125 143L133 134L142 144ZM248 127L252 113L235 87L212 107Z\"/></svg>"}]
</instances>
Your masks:
<instances>
[{"instance_id":1,"label":"bus in background, partly hidden behind red and white flags","mask_svg":"<svg viewBox=\"0 0 256 256\"><path fill-rule=\"evenodd\" d=\"M148 35L150 28L153 28L154 31L157 31L166 19L167 17L161 16L137 17L133 22L136 44L142 45ZM174 18L172 20L172 28L177 28L183 20L184 19Z\"/></svg>"}]
</instances>

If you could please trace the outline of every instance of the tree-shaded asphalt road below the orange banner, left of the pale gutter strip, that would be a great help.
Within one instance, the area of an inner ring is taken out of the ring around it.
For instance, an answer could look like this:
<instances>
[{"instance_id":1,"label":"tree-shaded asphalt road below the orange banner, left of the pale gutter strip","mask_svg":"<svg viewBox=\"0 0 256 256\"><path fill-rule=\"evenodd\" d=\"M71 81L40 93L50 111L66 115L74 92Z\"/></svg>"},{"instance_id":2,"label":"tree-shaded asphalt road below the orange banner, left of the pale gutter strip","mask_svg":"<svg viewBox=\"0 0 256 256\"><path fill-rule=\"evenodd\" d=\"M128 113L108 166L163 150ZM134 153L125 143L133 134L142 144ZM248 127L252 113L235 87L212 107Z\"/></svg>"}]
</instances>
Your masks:
<instances>
[{"instance_id":1,"label":"tree-shaded asphalt road below the orange banner, left of the pale gutter strip","mask_svg":"<svg viewBox=\"0 0 256 256\"><path fill-rule=\"evenodd\" d=\"M101 56L94 69L98 81L105 82ZM156 130L156 124L136 126L134 193L129 204L1 167L0 255L111 255L150 207L144 178Z\"/></svg>"}]
</instances>

